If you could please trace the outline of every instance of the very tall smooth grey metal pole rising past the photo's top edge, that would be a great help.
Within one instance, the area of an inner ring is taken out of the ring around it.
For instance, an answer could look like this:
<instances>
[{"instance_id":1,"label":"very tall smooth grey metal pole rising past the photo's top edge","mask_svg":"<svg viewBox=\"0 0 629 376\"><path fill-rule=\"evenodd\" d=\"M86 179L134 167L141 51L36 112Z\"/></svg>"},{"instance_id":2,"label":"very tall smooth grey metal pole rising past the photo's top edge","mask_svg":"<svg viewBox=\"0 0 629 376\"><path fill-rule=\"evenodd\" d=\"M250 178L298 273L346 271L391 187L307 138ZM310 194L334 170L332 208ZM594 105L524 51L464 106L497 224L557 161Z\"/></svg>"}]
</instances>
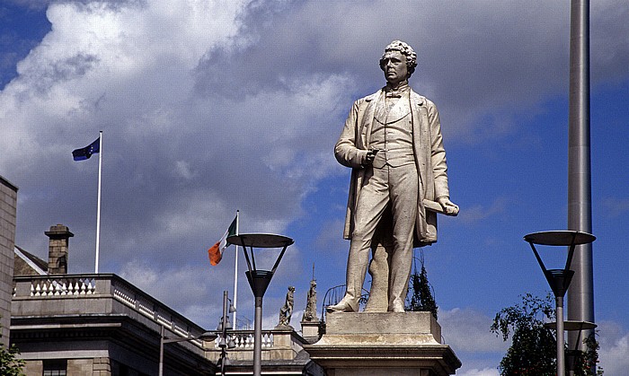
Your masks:
<instances>
[{"instance_id":1,"label":"very tall smooth grey metal pole rising past the photo's top edge","mask_svg":"<svg viewBox=\"0 0 629 376\"><path fill-rule=\"evenodd\" d=\"M589 150L589 0L571 0L570 116L568 131L568 229L592 232L591 166ZM568 319L594 321L592 245L577 246L572 261L574 277L568 290ZM578 346L579 332L568 337ZM584 331L586 338L592 330Z\"/></svg>"}]
</instances>

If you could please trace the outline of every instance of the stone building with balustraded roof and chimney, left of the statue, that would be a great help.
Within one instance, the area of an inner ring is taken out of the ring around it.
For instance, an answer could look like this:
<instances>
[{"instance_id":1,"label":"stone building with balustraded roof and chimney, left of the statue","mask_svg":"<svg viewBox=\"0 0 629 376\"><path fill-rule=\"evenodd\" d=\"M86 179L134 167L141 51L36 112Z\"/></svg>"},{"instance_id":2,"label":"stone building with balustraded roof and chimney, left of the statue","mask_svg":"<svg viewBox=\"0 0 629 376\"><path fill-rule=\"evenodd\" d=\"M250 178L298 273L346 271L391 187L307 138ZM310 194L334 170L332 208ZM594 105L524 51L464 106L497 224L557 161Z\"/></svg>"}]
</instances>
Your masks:
<instances>
[{"instance_id":1,"label":"stone building with balustraded roof and chimney, left of the statue","mask_svg":"<svg viewBox=\"0 0 629 376\"><path fill-rule=\"evenodd\" d=\"M161 330L167 338L207 334L189 319L118 275L68 275L69 229L57 224L49 237L49 260L14 247L11 343L26 360L27 376L157 375ZM262 332L262 374L321 376L293 329ZM251 375L253 331L229 336L229 375ZM218 374L216 340L164 344L164 375Z\"/></svg>"}]
</instances>

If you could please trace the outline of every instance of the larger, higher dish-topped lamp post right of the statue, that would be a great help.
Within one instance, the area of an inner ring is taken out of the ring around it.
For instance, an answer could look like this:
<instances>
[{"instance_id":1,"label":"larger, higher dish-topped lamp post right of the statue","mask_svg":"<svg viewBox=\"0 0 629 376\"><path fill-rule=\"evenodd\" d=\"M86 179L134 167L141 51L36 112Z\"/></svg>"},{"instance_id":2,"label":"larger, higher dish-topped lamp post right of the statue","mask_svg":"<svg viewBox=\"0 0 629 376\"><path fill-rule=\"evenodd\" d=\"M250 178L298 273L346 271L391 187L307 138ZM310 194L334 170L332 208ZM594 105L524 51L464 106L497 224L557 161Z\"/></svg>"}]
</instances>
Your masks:
<instances>
[{"instance_id":1,"label":"larger, higher dish-topped lamp post right of the statue","mask_svg":"<svg viewBox=\"0 0 629 376\"><path fill-rule=\"evenodd\" d=\"M524 236L524 240L530 244L533 253L542 268L546 281L550 284L554 293L555 316L557 318L557 376L565 376L565 341L563 337L563 297L574 275L574 271L570 270L574 248L580 244L589 244L596 240L596 237L587 232L576 231L554 231L554 232L534 232ZM535 245L545 246L568 246L568 258L566 259L563 269L547 269L540 258Z\"/></svg>"}]
</instances>

